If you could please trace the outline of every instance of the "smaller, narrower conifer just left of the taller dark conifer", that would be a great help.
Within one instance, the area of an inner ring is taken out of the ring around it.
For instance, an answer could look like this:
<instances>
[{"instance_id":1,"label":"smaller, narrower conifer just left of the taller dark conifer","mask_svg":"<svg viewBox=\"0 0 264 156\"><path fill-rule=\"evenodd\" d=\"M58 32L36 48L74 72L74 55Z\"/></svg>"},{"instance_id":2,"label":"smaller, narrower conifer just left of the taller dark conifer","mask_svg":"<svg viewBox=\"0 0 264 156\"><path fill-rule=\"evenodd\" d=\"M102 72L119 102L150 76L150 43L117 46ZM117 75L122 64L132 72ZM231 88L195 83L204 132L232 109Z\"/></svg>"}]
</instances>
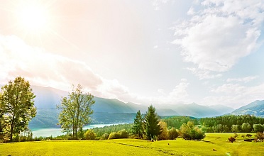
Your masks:
<instances>
[{"instance_id":1,"label":"smaller, narrower conifer just left of the taller dark conifer","mask_svg":"<svg viewBox=\"0 0 264 156\"><path fill-rule=\"evenodd\" d=\"M143 115L141 114L141 111L138 111L136 113L136 118L134 119L132 133L134 135L138 135L138 138L143 137Z\"/></svg>"}]
</instances>

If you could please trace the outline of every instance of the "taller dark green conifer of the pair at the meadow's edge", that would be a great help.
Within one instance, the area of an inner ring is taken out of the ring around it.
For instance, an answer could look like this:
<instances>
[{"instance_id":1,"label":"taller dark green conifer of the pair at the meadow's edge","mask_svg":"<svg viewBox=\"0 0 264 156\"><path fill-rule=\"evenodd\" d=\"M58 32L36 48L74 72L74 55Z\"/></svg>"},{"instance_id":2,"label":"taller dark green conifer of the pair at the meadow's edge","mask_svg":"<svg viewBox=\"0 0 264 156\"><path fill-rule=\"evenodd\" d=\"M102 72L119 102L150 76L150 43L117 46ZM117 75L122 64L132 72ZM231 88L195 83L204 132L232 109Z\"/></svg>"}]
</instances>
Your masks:
<instances>
[{"instance_id":1,"label":"taller dark green conifer of the pair at the meadow's edge","mask_svg":"<svg viewBox=\"0 0 264 156\"><path fill-rule=\"evenodd\" d=\"M160 135L162 130L160 128L158 114L152 105L148 107L148 111L145 113L144 130L148 140Z\"/></svg>"}]
</instances>

